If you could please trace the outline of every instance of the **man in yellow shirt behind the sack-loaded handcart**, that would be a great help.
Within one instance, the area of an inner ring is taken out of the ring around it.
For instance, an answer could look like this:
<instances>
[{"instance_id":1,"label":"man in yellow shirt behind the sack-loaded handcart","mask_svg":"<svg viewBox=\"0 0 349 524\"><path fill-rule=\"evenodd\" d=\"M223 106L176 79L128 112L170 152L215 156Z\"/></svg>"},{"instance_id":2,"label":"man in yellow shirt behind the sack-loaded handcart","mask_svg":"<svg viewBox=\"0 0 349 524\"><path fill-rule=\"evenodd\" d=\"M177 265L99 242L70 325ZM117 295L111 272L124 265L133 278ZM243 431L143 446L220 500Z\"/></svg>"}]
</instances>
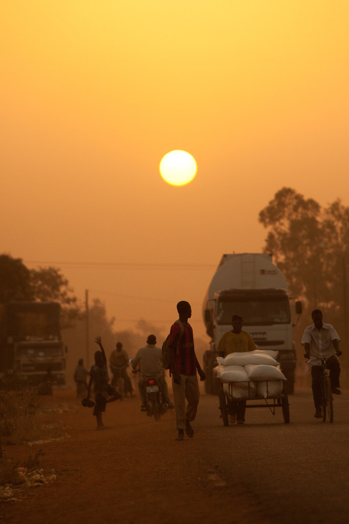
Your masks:
<instances>
[{"instance_id":1,"label":"man in yellow shirt behind the sack-loaded handcart","mask_svg":"<svg viewBox=\"0 0 349 524\"><path fill-rule=\"evenodd\" d=\"M242 316L233 315L233 329L224 333L218 344L217 350L220 357L225 357L230 353L243 353L257 349L252 336L247 331L243 331L242 325ZM228 400L228 409L232 413L229 416L231 424L235 423L235 418L238 424L245 422L246 400Z\"/></svg>"}]
</instances>

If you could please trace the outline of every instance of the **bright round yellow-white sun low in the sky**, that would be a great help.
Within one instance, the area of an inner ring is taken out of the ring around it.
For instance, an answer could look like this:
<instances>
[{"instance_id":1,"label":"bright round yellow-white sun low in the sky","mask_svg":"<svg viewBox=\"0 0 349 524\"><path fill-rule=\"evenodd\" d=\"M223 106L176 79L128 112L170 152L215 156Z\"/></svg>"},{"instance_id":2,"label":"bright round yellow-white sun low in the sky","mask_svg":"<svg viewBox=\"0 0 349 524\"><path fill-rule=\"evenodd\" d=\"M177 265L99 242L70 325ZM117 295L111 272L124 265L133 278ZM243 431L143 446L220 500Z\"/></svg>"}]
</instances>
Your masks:
<instances>
[{"instance_id":1,"label":"bright round yellow-white sun low in the sky","mask_svg":"<svg viewBox=\"0 0 349 524\"><path fill-rule=\"evenodd\" d=\"M197 162L187 151L170 151L160 162L161 177L171 185L186 185L196 173Z\"/></svg>"}]
</instances>

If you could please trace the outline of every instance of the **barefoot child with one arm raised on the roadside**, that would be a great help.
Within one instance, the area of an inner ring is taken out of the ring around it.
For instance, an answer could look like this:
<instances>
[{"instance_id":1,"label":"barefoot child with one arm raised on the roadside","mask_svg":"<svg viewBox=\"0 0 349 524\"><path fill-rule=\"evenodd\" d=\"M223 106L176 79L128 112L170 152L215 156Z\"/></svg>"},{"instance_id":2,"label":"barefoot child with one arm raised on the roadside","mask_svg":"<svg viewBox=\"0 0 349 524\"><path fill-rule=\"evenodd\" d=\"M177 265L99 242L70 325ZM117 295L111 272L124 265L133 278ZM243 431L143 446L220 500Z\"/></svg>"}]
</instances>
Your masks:
<instances>
[{"instance_id":1,"label":"barefoot child with one arm raised on the roadside","mask_svg":"<svg viewBox=\"0 0 349 524\"><path fill-rule=\"evenodd\" d=\"M102 339L100 336L96 337L95 343L100 346L101 350L96 351L94 354L95 364L90 369L90 381L88 386L88 394L86 398L90 398L91 386L93 384L95 400L93 414L97 420L97 429L100 430L109 428L108 426L103 424L102 420L102 413L105 411L106 404L108 402L113 402L114 400L117 400L120 397L117 394L116 390L108 385L109 375L107 361L104 348L102 346ZM109 396L108 392L111 393L112 396Z\"/></svg>"}]
</instances>

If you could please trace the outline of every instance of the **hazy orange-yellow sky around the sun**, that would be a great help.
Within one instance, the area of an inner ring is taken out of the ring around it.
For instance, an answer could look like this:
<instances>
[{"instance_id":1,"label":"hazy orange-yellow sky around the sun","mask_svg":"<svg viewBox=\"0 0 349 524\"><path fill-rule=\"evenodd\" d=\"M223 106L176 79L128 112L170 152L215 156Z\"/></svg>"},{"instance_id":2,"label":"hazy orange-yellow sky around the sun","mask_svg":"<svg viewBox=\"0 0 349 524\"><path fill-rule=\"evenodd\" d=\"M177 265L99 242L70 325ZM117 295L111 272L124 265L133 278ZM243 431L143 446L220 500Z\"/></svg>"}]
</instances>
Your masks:
<instances>
[{"instance_id":1,"label":"hazy orange-yellow sky around the sun","mask_svg":"<svg viewBox=\"0 0 349 524\"><path fill-rule=\"evenodd\" d=\"M261 250L276 191L349 205L348 20L347 0L3 1L0 252L60 267L118 329L184 299L204 333L215 266ZM198 163L181 188L173 149Z\"/></svg>"}]
</instances>

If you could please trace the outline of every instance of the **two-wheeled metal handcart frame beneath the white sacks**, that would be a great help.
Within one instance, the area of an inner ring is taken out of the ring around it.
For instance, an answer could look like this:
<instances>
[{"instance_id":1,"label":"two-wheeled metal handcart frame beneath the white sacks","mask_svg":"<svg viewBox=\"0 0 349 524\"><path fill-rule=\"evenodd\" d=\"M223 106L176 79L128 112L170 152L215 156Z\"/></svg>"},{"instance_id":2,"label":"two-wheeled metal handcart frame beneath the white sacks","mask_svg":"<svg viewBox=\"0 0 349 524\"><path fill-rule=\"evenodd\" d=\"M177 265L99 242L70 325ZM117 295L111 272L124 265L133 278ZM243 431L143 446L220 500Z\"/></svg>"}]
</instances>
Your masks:
<instances>
[{"instance_id":1,"label":"two-wheeled metal handcart frame beneath the white sacks","mask_svg":"<svg viewBox=\"0 0 349 524\"><path fill-rule=\"evenodd\" d=\"M232 412L230 412L230 409L229 409L230 400L246 400L246 408L268 408L273 415L275 415L276 408L281 408L282 415L283 415L283 421L285 422L285 424L288 424L290 422L290 409L289 409L289 403L288 403L288 396L284 392L285 391L285 381L283 382L282 392L279 395L269 395L268 382L270 382L270 380L264 381L264 383L266 383L266 397L256 396L255 388L252 388L252 384L256 384L256 383L254 381L248 381L248 385L246 387L246 396L239 397L239 398L233 397L233 385L235 384L233 381L225 383L225 386L227 386L226 388L223 388L223 383L221 383L220 390L219 390L219 400L220 400L219 409L221 410L221 417L223 420L223 424L225 426L228 426L229 425L228 415L233 414ZM249 403L249 402L252 402L252 403Z\"/></svg>"}]
</instances>

